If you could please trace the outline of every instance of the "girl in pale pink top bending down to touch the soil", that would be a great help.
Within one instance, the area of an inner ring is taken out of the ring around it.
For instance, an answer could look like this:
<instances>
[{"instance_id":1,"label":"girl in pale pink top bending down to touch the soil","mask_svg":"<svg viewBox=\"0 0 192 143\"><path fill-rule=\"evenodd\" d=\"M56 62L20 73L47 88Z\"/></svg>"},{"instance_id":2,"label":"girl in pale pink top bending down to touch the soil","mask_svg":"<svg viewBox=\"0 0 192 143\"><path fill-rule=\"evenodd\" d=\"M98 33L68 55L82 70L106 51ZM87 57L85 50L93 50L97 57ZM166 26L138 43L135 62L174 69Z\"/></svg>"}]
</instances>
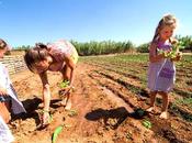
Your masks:
<instances>
[{"instance_id":1,"label":"girl in pale pink top bending down to touch the soil","mask_svg":"<svg viewBox=\"0 0 192 143\"><path fill-rule=\"evenodd\" d=\"M74 77L76 64L78 62L78 53L75 46L65 40L59 40L55 43L42 44L38 43L34 48L29 50L24 56L29 69L39 75L43 84L43 124L48 124L48 112L50 103L50 91L47 79L47 70L60 72L63 80L68 80L68 89L74 88ZM65 109L71 108L70 92L66 95L63 101Z\"/></svg>"}]
</instances>

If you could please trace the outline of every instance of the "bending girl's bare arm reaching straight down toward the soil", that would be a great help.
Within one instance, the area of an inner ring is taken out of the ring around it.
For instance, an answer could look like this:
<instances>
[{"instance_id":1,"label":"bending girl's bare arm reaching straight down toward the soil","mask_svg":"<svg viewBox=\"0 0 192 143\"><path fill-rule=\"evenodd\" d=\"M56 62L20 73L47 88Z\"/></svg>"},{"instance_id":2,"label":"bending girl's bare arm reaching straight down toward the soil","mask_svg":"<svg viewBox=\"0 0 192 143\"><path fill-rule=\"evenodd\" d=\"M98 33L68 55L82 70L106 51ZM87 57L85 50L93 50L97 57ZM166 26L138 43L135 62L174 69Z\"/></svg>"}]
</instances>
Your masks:
<instances>
[{"instance_id":1,"label":"bending girl's bare arm reaching straight down toward the soil","mask_svg":"<svg viewBox=\"0 0 192 143\"><path fill-rule=\"evenodd\" d=\"M47 74L42 73L39 74L39 78L42 79L43 84L43 101L44 101L44 110L49 111L49 105L50 105L50 89L49 84L47 79Z\"/></svg>"}]
</instances>

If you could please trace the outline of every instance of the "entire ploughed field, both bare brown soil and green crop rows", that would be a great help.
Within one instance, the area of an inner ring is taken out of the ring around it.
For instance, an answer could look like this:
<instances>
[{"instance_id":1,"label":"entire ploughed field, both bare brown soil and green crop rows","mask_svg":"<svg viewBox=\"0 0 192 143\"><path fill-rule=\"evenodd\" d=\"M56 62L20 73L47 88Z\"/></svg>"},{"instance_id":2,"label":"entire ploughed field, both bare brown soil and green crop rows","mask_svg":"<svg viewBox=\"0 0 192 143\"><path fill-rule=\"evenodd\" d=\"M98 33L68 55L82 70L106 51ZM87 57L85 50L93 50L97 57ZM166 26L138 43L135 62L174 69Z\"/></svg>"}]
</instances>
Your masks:
<instances>
[{"instance_id":1,"label":"entire ploughed field, both bare brown soil and green crop rows","mask_svg":"<svg viewBox=\"0 0 192 143\"><path fill-rule=\"evenodd\" d=\"M37 75L27 70L11 76L26 114L13 117L10 129L14 143L52 143L54 130L65 128L56 143L191 143L192 142L192 56L177 64L177 79L169 95L169 119L156 112L138 116L149 107L147 89L148 55L117 54L81 57L77 65L72 109L59 106L59 73L48 73L52 90L53 122L36 130L42 102Z\"/></svg>"}]
</instances>

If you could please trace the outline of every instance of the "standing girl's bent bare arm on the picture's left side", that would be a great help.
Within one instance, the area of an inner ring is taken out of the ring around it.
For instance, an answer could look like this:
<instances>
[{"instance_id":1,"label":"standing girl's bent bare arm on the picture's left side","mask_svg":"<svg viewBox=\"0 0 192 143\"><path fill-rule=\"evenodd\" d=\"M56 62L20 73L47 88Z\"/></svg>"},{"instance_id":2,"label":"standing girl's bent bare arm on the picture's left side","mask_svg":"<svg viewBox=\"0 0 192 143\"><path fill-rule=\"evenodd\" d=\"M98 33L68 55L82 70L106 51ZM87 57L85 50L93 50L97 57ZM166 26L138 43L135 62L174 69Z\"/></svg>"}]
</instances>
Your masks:
<instances>
[{"instance_id":1,"label":"standing girl's bent bare arm on the picture's left side","mask_svg":"<svg viewBox=\"0 0 192 143\"><path fill-rule=\"evenodd\" d=\"M157 44L151 43L149 47L149 61L151 63L155 63L155 62L159 62L162 58L163 58L162 54L157 54Z\"/></svg>"}]
</instances>

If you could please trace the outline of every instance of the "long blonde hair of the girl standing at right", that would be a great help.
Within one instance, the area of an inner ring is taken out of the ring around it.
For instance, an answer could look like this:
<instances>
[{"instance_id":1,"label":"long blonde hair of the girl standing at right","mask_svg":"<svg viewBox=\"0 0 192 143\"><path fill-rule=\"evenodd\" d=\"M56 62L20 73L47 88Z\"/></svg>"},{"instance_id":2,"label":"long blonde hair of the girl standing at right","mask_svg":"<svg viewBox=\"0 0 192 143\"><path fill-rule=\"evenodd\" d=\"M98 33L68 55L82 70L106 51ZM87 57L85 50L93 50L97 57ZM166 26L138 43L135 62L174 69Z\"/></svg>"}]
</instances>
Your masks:
<instances>
[{"instance_id":1,"label":"long blonde hair of the girl standing at right","mask_svg":"<svg viewBox=\"0 0 192 143\"><path fill-rule=\"evenodd\" d=\"M173 29L176 29L176 26L177 26L177 19L176 19L174 15L166 14L165 16L162 16L162 19L159 21L159 23L158 23L158 25L156 28L153 42L158 41L160 30L162 30L162 28L165 28L167 25L168 26L172 26Z\"/></svg>"}]
</instances>

